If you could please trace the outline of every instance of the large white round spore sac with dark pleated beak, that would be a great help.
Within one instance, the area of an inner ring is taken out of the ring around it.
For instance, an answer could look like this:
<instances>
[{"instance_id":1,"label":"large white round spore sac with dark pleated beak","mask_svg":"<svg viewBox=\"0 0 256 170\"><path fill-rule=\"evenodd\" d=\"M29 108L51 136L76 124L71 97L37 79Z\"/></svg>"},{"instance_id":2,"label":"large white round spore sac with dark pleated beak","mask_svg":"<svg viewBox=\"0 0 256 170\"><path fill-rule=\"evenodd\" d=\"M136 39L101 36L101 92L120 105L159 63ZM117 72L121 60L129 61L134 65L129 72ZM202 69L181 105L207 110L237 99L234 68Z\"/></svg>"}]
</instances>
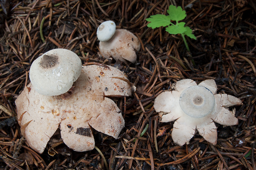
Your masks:
<instances>
[{"instance_id":1,"label":"large white round spore sac with dark pleated beak","mask_svg":"<svg viewBox=\"0 0 256 170\"><path fill-rule=\"evenodd\" d=\"M81 59L67 49L52 49L31 65L29 79L42 95L60 95L69 91L81 74Z\"/></svg>"}]
</instances>

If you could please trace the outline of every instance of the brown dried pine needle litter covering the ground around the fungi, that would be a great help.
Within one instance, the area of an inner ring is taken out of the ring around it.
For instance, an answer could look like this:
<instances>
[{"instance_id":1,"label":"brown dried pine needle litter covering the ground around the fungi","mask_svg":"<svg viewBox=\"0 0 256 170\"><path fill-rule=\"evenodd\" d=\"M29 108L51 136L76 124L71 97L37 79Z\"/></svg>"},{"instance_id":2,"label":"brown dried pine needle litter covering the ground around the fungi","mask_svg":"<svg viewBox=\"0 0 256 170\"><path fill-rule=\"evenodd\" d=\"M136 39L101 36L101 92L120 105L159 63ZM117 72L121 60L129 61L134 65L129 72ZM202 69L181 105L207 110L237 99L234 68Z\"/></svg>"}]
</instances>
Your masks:
<instances>
[{"instance_id":1,"label":"brown dried pine needle litter covering the ground around the fungi","mask_svg":"<svg viewBox=\"0 0 256 170\"><path fill-rule=\"evenodd\" d=\"M6 170L228 170L256 169L256 3L254 0L0 0L0 169ZM186 10L185 22L197 40L165 28L147 28L150 15L169 5ZM6 15L7 14L7 15ZM142 44L137 63L100 56L97 27L112 20L135 33ZM94 130L96 149L75 152L52 137L41 155L21 136L14 101L29 83L33 60L50 49L65 48L83 64L119 68L137 86L116 103L126 126L120 138ZM195 65L192 64L192 59ZM161 123L153 103L175 82L214 79L218 93L240 98L233 107L239 124L216 124L213 146L198 133L183 147L173 143L173 122Z\"/></svg>"}]
</instances>

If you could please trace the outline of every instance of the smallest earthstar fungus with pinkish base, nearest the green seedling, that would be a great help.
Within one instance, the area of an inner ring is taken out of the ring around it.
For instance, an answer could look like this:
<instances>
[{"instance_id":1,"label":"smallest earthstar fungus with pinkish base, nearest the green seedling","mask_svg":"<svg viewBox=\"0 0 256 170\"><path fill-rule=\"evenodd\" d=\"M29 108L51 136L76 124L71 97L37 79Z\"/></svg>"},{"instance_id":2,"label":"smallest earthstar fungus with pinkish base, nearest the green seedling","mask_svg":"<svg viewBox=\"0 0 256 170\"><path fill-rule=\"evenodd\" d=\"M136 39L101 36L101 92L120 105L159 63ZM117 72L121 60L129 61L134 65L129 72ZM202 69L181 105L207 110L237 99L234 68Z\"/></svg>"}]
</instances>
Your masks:
<instances>
[{"instance_id":1,"label":"smallest earthstar fungus with pinkish base, nearest the green seedling","mask_svg":"<svg viewBox=\"0 0 256 170\"><path fill-rule=\"evenodd\" d=\"M140 50L139 39L130 31L117 29L113 21L105 21L97 29L99 49L104 58L135 63L136 51Z\"/></svg>"}]
</instances>

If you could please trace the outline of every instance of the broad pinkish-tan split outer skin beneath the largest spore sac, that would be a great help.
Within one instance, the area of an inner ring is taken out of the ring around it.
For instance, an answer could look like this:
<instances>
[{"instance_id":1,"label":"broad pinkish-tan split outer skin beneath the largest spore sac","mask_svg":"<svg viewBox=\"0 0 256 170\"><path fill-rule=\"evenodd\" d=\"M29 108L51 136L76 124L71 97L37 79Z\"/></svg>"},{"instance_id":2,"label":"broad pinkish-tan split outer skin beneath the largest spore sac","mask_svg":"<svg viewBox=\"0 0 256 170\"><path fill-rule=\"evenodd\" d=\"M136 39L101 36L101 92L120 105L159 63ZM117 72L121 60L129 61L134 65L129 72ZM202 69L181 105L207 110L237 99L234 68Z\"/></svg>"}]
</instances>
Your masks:
<instances>
[{"instance_id":1,"label":"broad pinkish-tan split outer skin beneath the largest spore sac","mask_svg":"<svg viewBox=\"0 0 256 170\"><path fill-rule=\"evenodd\" d=\"M17 98L18 123L32 149L43 153L58 127L64 143L75 151L95 146L91 127L114 138L124 127L115 102L108 97L131 95L131 84L111 66L83 66L81 75L66 95L46 96L31 84Z\"/></svg>"}]
</instances>

